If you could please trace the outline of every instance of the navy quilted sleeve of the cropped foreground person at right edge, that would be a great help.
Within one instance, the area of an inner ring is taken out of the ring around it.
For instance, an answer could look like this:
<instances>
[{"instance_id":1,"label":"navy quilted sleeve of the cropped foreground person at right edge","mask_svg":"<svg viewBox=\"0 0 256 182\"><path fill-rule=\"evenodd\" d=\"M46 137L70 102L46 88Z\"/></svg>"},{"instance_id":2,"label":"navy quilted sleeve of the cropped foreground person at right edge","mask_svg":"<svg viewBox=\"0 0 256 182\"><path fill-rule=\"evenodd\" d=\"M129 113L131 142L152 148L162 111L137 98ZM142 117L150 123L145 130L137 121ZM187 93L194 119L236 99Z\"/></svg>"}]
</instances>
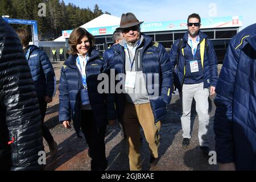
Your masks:
<instances>
[{"instance_id":1,"label":"navy quilted sleeve of the cropped foreground person at right edge","mask_svg":"<svg viewBox=\"0 0 256 182\"><path fill-rule=\"evenodd\" d=\"M233 42L230 42L218 78L217 96L214 100L216 105L214 133L216 134L217 161L220 163L234 162L232 102L238 58L238 52L234 49Z\"/></svg>"}]
</instances>

